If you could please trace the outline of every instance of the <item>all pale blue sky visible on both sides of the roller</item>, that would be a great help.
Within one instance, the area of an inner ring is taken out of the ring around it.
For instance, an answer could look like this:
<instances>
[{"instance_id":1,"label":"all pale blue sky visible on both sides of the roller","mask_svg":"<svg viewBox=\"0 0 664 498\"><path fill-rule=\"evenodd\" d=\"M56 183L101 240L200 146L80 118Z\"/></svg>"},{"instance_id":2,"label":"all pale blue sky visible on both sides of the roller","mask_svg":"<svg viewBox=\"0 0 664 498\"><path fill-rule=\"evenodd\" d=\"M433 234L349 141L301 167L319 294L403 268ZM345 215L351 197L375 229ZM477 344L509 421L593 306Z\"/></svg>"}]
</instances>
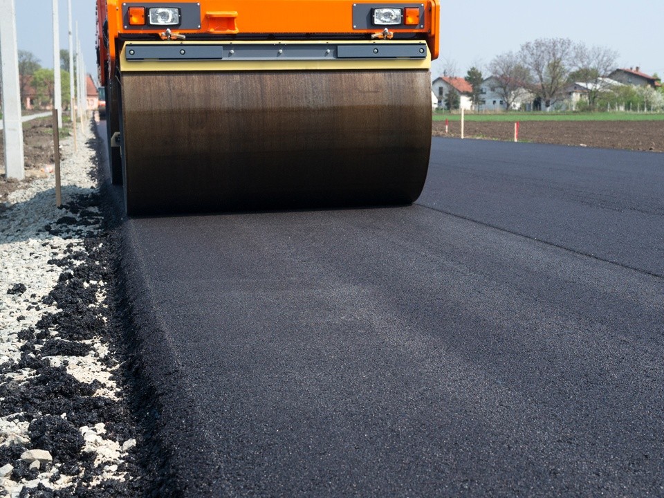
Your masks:
<instances>
[{"instance_id":1,"label":"all pale blue sky visible on both sides of the roller","mask_svg":"<svg viewBox=\"0 0 664 498\"><path fill-rule=\"evenodd\" d=\"M246 0L250 1L250 0ZM19 48L34 53L44 67L53 67L52 0L15 0ZM60 48L67 48L67 1L58 0ZM95 0L72 0L84 59L96 77ZM555 0L481 0L441 3L441 60L434 75L447 63L460 76L479 64L483 73L495 55L518 50L540 37L564 37L588 46L618 52L618 66L640 66L648 74L664 77L664 40L661 24L664 1L629 0L589 2Z\"/></svg>"}]
</instances>

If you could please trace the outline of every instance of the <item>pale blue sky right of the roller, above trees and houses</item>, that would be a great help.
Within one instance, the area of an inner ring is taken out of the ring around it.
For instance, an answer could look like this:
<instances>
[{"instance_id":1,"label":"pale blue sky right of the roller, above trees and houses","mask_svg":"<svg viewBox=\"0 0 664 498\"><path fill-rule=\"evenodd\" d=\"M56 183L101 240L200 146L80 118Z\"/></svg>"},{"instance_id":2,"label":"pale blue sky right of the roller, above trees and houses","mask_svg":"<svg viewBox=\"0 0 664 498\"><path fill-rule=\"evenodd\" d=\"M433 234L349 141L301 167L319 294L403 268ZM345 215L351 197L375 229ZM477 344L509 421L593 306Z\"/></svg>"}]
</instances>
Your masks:
<instances>
[{"instance_id":1,"label":"pale blue sky right of the roller, above trees and houses","mask_svg":"<svg viewBox=\"0 0 664 498\"><path fill-rule=\"evenodd\" d=\"M664 77L662 0L445 1L441 12L441 62L434 69L447 59L456 62L460 76L477 63L486 74L495 55L560 37L611 48L618 66Z\"/></svg>"}]
</instances>

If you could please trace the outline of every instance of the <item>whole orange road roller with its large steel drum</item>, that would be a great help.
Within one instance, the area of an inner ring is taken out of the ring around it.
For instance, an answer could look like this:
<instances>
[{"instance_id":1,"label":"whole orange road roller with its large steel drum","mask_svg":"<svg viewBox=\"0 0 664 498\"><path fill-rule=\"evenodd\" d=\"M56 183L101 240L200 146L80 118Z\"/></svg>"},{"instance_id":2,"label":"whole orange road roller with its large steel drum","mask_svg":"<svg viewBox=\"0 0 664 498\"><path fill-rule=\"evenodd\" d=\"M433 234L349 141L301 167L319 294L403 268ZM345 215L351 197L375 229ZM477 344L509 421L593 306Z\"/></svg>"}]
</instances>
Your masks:
<instances>
[{"instance_id":1,"label":"whole orange road roller with its large steel drum","mask_svg":"<svg viewBox=\"0 0 664 498\"><path fill-rule=\"evenodd\" d=\"M415 201L439 4L98 0L127 214Z\"/></svg>"}]
</instances>

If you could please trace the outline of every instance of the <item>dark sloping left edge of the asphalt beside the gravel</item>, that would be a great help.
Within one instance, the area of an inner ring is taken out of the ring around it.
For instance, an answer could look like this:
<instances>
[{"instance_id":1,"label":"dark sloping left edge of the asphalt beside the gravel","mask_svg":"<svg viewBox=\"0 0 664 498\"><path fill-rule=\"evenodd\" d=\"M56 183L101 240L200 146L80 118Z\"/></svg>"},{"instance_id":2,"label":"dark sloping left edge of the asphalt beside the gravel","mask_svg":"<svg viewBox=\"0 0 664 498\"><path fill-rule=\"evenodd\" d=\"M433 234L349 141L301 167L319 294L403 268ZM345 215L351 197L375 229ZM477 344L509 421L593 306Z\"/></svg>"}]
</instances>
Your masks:
<instances>
[{"instance_id":1,"label":"dark sloping left edge of the asphalt beside the gravel","mask_svg":"<svg viewBox=\"0 0 664 498\"><path fill-rule=\"evenodd\" d=\"M150 497L219 496L224 488L223 473L210 458L204 421L196 414L177 354L160 326L149 284L142 276L142 256L136 246L133 221L124 214L122 190L111 184L104 141L95 128L98 154L98 181L102 212L111 243L113 301L111 326L124 339L122 375L129 386L129 406L140 425L142 441L137 445L140 463L151 482ZM188 425L187 421L195 421ZM187 438L205 450L190 454L178 452ZM212 450L214 452L214 450ZM196 472L192 472L195 469ZM218 476L213 482L206 477Z\"/></svg>"}]
</instances>

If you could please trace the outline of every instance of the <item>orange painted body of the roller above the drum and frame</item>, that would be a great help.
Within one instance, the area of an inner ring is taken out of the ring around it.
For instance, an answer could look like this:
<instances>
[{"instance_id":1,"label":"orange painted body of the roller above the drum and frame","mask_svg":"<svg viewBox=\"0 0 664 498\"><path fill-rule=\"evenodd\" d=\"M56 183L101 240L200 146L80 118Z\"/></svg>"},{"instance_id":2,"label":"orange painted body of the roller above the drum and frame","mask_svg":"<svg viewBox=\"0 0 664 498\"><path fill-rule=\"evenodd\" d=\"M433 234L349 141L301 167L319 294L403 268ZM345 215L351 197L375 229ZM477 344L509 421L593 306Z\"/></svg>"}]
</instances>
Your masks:
<instances>
[{"instance_id":1,"label":"orange painted body of the roller above the drum and frame","mask_svg":"<svg viewBox=\"0 0 664 498\"><path fill-rule=\"evenodd\" d=\"M140 23L140 9L156 6L182 10L182 24L151 26ZM377 7L402 8L404 22L398 26L367 25L363 17ZM130 10L132 9L132 10ZM407 10L407 12L405 12ZM424 39L432 59L438 56L439 3L407 1L350 0L97 0L98 57L100 81L107 84L118 64L122 44L137 39L159 39L169 28L187 39L368 39L380 36L384 28L395 39ZM134 15L138 12L139 15ZM406 14L408 16L406 16ZM187 19L185 19L185 15ZM133 17L132 17L133 16ZM194 17L194 19L192 19ZM408 17L408 21L405 18ZM405 23L408 24L405 24Z\"/></svg>"}]
</instances>

